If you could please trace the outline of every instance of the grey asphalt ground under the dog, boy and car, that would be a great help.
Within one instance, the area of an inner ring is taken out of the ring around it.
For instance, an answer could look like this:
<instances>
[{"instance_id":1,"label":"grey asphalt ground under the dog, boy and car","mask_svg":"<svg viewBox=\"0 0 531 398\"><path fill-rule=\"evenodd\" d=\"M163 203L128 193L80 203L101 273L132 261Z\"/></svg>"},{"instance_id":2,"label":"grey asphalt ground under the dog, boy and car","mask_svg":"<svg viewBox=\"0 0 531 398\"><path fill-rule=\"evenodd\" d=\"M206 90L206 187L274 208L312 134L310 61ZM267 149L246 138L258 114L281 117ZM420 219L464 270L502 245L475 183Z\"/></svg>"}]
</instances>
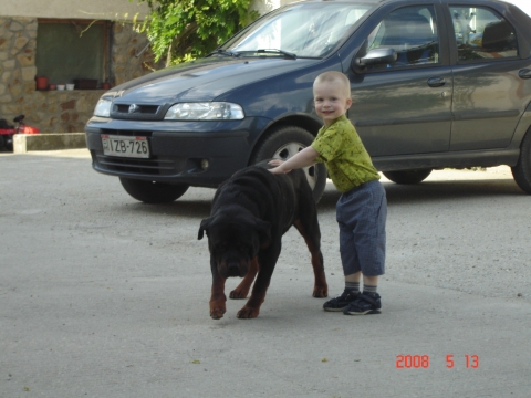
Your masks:
<instances>
[{"instance_id":1,"label":"grey asphalt ground under the dog, boy and car","mask_svg":"<svg viewBox=\"0 0 531 398\"><path fill-rule=\"evenodd\" d=\"M219 321L197 240L214 190L143 205L86 150L2 154L0 171L0 397L530 396L531 197L507 167L384 180L381 315L322 311L291 230L260 316L229 300ZM337 197L319 205L331 295Z\"/></svg>"}]
</instances>

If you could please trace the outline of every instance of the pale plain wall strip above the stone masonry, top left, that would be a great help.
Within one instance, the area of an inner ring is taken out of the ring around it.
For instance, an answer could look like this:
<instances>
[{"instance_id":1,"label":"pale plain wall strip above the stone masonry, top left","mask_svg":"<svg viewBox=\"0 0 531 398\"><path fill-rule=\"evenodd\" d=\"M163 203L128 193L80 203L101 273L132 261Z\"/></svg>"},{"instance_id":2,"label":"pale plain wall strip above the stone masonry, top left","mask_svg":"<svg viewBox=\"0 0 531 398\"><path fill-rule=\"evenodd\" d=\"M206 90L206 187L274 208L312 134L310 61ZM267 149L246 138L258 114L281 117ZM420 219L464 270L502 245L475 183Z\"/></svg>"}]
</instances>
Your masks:
<instances>
[{"instance_id":1,"label":"pale plain wall strip above the stone masonry, top left","mask_svg":"<svg viewBox=\"0 0 531 398\"><path fill-rule=\"evenodd\" d=\"M0 17L131 20L148 11L136 0L0 0Z\"/></svg>"}]
</instances>

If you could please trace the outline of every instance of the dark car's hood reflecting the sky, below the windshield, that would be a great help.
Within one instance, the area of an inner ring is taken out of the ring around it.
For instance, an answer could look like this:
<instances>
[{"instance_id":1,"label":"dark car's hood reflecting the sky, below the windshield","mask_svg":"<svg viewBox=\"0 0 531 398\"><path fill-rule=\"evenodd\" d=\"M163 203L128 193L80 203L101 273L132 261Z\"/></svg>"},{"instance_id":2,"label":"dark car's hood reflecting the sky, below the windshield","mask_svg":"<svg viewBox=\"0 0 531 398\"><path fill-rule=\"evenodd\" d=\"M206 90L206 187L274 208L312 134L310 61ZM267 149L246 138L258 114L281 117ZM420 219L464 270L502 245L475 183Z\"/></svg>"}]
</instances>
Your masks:
<instances>
[{"instance_id":1,"label":"dark car's hood reflecting the sky, below the windshield","mask_svg":"<svg viewBox=\"0 0 531 398\"><path fill-rule=\"evenodd\" d=\"M320 60L280 57L207 57L164 69L121 84L105 95L115 103L162 105L177 102L214 101L248 83L273 77Z\"/></svg>"}]
</instances>

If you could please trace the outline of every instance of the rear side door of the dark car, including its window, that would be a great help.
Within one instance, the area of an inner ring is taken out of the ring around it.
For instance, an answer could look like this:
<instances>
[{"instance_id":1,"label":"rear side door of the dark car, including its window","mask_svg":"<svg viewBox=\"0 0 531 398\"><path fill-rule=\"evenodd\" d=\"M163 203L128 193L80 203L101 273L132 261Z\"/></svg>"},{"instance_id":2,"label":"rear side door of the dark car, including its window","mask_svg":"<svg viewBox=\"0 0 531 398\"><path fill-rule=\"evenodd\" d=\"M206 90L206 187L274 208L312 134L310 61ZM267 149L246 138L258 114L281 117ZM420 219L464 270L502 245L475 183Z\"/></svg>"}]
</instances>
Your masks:
<instances>
[{"instance_id":1,"label":"rear side door of the dark car, including its window","mask_svg":"<svg viewBox=\"0 0 531 398\"><path fill-rule=\"evenodd\" d=\"M454 35L454 123L450 150L507 147L530 102L520 71L517 31L498 11L449 4ZM524 98L527 96L527 98Z\"/></svg>"}]
</instances>

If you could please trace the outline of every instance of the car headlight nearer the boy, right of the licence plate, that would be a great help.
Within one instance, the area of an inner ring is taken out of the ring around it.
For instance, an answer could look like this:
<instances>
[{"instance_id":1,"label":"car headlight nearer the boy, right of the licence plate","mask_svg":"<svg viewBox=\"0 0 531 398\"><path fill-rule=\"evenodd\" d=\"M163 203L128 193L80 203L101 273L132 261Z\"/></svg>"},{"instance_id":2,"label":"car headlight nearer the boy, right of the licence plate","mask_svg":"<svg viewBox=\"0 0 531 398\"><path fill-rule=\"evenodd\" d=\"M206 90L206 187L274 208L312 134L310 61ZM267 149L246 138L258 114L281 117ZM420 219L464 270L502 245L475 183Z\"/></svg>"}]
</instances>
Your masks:
<instances>
[{"instance_id":1,"label":"car headlight nearer the boy, right of the licence plate","mask_svg":"<svg viewBox=\"0 0 531 398\"><path fill-rule=\"evenodd\" d=\"M241 121L246 115L240 105L226 102L181 103L171 106L166 121Z\"/></svg>"}]
</instances>

